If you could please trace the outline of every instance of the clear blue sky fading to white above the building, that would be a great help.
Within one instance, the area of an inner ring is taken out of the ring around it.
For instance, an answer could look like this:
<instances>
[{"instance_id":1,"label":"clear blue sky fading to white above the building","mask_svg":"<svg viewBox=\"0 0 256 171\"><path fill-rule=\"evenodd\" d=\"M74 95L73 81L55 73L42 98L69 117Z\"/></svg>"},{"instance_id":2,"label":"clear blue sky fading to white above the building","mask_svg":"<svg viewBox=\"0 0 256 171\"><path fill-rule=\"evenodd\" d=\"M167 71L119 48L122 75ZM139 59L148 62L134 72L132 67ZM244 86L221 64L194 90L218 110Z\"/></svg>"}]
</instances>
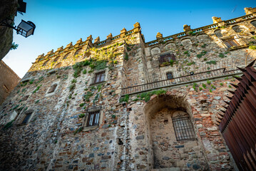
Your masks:
<instances>
[{"instance_id":1,"label":"clear blue sky fading to white above the building","mask_svg":"<svg viewBox=\"0 0 256 171\"><path fill-rule=\"evenodd\" d=\"M121 29L133 28L140 22L145 41L155 40L157 32L169 36L183 31L183 25L198 28L213 24L212 16L222 20L245 15L245 7L256 7L255 0L244 1L84 1L84 0L24 0L26 14L21 19L36 24L33 36L24 38L14 33L19 47L3 59L10 68L23 77L31 63L42 53L66 46L79 38L100 36L101 41L109 33L116 36Z\"/></svg>"}]
</instances>

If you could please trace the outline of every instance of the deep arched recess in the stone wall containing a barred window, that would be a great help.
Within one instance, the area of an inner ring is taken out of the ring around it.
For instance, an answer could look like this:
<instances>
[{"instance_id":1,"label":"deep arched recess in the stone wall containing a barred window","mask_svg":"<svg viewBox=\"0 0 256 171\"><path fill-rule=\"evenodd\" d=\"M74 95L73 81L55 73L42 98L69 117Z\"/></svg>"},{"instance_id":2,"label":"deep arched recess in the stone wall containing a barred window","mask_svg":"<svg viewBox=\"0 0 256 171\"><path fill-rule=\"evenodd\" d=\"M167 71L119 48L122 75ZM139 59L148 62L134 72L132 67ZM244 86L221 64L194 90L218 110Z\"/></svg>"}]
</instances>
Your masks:
<instances>
[{"instance_id":1,"label":"deep arched recess in the stone wall containing a barred window","mask_svg":"<svg viewBox=\"0 0 256 171\"><path fill-rule=\"evenodd\" d=\"M168 92L166 95L155 96L144 105L143 112L147 128L145 134L148 134L150 148L148 160L152 168L188 169L188 165L198 169L203 167L200 165L200 162L205 162L203 157L194 156L193 162L189 160L191 154L200 153L200 147L192 122L192 110L184 94ZM191 133L191 137L188 138L187 135L185 138L182 135L185 140L177 139L177 135L183 134L178 132L178 126L185 126L183 123L177 126L177 119L184 119L182 122L188 122L188 125L190 123L190 129L183 131L188 131L184 132L186 135Z\"/></svg>"}]
</instances>

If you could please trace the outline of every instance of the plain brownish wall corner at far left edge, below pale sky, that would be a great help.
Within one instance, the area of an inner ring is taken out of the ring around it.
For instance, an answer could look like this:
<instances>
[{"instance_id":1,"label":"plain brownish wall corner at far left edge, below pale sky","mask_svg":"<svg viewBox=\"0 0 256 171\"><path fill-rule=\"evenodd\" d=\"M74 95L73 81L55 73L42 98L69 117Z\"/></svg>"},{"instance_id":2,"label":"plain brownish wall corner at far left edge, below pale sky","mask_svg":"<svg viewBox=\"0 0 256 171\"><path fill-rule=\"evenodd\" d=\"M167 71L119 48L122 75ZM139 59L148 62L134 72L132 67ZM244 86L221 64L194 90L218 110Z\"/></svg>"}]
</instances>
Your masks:
<instances>
[{"instance_id":1,"label":"plain brownish wall corner at far left edge, below pale sky","mask_svg":"<svg viewBox=\"0 0 256 171\"><path fill-rule=\"evenodd\" d=\"M0 61L0 105L7 98L11 90L13 90L21 78L14 73L14 71L9 68L9 66Z\"/></svg>"}]
</instances>

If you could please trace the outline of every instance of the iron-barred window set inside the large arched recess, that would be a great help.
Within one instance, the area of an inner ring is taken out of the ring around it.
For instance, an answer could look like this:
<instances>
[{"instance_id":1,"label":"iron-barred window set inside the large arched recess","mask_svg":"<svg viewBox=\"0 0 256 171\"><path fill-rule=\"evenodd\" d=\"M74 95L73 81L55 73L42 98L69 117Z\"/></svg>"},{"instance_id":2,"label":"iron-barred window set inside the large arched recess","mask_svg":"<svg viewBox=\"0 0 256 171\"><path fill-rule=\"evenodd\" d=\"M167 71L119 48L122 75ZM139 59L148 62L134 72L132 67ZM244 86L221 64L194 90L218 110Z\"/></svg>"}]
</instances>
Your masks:
<instances>
[{"instance_id":1,"label":"iron-barred window set inside the large arched recess","mask_svg":"<svg viewBox=\"0 0 256 171\"><path fill-rule=\"evenodd\" d=\"M177 140L193 140L195 132L189 117L172 118Z\"/></svg>"}]
</instances>

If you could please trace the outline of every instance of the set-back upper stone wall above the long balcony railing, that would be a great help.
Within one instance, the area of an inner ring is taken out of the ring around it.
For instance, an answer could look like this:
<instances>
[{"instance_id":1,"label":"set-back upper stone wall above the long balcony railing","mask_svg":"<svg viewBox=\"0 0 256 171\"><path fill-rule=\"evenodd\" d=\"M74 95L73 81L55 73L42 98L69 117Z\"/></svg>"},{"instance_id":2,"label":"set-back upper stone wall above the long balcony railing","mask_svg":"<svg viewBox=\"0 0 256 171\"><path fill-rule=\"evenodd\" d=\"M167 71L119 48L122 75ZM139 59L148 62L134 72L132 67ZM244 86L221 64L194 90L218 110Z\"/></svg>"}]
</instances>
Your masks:
<instances>
[{"instance_id":1,"label":"set-back upper stone wall above the long balcony railing","mask_svg":"<svg viewBox=\"0 0 256 171\"><path fill-rule=\"evenodd\" d=\"M255 33L255 26L251 24L255 19L244 21L239 24L223 26L223 28L213 28L199 35L185 36L183 38L175 38L171 41L164 41L156 45L147 46L145 48L145 56L148 59L148 72L154 80L163 80L166 78L166 73L171 71L175 77L183 76L185 73L194 71L213 70L227 66L235 68L235 66L245 66L245 58L248 53L247 61L252 61L252 57L256 56L255 51L245 48L237 49L236 51L227 51L227 48L222 43L222 40L228 37L235 38L250 38ZM232 26L240 26L242 29L239 33L235 32ZM222 36L217 37L215 31L221 31ZM237 39L239 42L240 39ZM175 55L176 62L173 66L160 66L160 54L171 52ZM252 51L252 52L251 52ZM198 56L204 53L202 56ZM209 61L215 61L216 64L208 64ZM233 63L232 63L233 62ZM154 76L155 75L155 76Z\"/></svg>"}]
</instances>

